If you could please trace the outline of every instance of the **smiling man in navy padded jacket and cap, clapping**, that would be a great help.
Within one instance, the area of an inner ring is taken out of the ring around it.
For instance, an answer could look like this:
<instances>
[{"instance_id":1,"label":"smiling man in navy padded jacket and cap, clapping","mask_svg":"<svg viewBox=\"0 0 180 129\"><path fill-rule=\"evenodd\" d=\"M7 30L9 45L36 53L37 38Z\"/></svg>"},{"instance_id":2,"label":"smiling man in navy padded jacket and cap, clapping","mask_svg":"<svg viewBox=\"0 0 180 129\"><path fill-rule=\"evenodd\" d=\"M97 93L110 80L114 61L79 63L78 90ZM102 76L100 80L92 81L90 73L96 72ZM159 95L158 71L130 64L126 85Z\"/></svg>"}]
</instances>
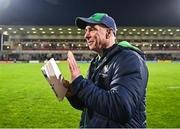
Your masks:
<instances>
[{"instance_id":1,"label":"smiling man in navy padded jacket and cap, clapping","mask_svg":"<svg viewBox=\"0 0 180 129\"><path fill-rule=\"evenodd\" d=\"M127 42L115 43L116 24L105 13L78 17L76 25L85 30L89 49L98 53L86 79L68 52L72 84L67 98L83 111L80 127L145 128L148 70L143 53Z\"/></svg>"}]
</instances>

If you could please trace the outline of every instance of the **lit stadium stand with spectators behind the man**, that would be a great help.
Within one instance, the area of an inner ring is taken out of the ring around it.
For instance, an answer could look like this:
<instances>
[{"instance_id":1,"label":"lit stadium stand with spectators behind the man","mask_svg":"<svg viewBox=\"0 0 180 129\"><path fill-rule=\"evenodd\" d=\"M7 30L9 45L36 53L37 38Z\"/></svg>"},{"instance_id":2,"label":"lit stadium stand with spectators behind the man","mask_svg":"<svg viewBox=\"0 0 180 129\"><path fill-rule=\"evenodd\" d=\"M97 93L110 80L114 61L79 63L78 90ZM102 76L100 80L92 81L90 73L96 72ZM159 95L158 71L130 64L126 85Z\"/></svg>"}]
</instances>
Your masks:
<instances>
[{"instance_id":1,"label":"lit stadium stand with spectators behind the man","mask_svg":"<svg viewBox=\"0 0 180 129\"><path fill-rule=\"evenodd\" d=\"M66 60L68 50L77 60L89 61L96 53L89 51L83 34L74 26L0 25L0 61ZM123 40L144 51L147 60L180 61L178 27L119 27L117 41Z\"/></svg>"}]
</instances>

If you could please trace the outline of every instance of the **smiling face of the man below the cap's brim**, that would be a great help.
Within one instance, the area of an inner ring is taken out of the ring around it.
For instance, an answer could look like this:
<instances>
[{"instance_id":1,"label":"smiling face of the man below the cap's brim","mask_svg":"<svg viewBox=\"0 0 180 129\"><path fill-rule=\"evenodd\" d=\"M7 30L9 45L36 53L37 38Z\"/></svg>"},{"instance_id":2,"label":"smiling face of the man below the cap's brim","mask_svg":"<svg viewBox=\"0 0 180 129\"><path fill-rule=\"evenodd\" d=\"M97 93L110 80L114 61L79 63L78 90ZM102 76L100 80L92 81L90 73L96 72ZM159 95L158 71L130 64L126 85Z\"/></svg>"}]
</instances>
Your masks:
<instances>
[{"instance_id":1,"label":"smiling face of the man below the cap's brim","mask_svg":"<svg viewBox=\"0 0 180 129\"><path fill-rule=\"evenodd\" d=\"M107 28L101 25L88 25L84 35L89 49L96 52L107 46Z\"/></svg>"}]
</instances>

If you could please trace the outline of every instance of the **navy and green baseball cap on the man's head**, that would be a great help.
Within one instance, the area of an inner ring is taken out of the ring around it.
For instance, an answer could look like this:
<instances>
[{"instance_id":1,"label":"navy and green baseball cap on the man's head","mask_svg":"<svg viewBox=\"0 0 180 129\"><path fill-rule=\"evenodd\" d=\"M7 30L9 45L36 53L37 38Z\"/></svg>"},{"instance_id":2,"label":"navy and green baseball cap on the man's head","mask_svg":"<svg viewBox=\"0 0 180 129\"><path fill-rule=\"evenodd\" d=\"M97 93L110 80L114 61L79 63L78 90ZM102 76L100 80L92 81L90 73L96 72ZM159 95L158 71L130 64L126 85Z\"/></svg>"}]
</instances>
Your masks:
<instances>
[{"instance_id":1,"label":"navy and green baseball cap on the man's head","mask_svg":"<svg viewBox=\"0 0 180 129\"><path fill-rule=\"evenodd\" d=\"M106 13L95 13L92 16L85 18L85 17L77 17L75 20L75 24L77 27L81 29L85 29L87 25L96 25L96 24L103 24L106 27L113 30L113 33L116 34L117 27L114 19Z\"/></svg>"}]
</instances>

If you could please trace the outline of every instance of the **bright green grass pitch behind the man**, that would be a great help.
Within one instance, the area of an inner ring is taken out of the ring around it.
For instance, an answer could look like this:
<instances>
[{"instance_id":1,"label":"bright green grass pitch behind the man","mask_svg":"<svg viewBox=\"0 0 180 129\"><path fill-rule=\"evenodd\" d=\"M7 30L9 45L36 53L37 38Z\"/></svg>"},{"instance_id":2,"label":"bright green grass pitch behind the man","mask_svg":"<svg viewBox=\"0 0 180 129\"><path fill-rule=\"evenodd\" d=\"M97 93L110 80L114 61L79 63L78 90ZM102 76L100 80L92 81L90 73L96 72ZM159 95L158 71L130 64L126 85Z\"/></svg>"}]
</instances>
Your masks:
<instances>
[{"instance_id":1,"label":"bright green grass pitch behind the man","mask_svg":"<svg viewBox=\"0 0 180 129\"><path fill-rule=\"evenodd\" d=\"M59 102L43 64L0 64L0 128L76 128L81 112ZM85 76L89 64L79 64ZM67 64L59 64L70 79ZM180 63L148 63L147 127L180 127Z\"/></svg>"}]
</instances>

